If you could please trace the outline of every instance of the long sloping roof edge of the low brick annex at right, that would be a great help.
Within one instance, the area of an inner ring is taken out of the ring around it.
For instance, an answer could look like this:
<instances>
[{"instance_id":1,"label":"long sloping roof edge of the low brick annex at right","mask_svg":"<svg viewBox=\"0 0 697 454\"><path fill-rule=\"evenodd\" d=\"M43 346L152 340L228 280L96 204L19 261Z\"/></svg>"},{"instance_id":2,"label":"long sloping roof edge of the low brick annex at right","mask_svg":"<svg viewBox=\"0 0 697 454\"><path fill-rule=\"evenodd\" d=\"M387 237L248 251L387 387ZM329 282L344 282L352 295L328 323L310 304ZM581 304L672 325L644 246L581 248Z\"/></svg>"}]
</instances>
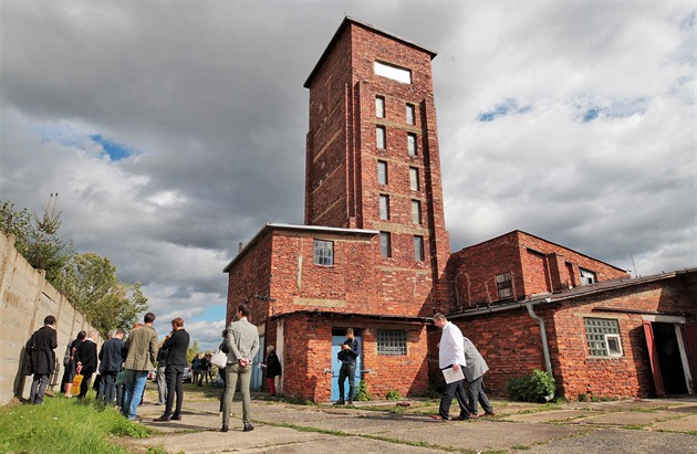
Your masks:
<instances>
[{"instance_id":1,"label":"long sloping roof edge of the low brick annex at right","mask_svg":"<svg viewBox=\"0 0 697 454\"><path fill-rule=\"evenodd\" d=\"M697 277L697 267L685 268L685 270L673 271L673 272L664 272L659 274L652 274L649 276L627 277L627 278L622 278L622 279L603 281L603 282L599 282L596 284L590 284L590 285L580 285L568 292L555 293L555 294L551 294L551 293L540 294L540 295L531 296L530 298L524 299L524 300L506 302L501 304L493 304L487 307L477 307L477 308L471 308L471 309L465 309L459 313L451 313L448 315L448 318L449 319L468 318L468 317L472 317L480 314L512 310L512 309L523 307L528 304L532 304L534 306L534 305L547 304L547 303L561 303L561 302L566 302L570 299L587 296L587 295L602 294L605 292L611 292L611 291L615 291L620 288L628 288L628 287L634 287L642 284L652 283L652 282L666 281L666 279L670 279L670 278L682 276L682 275L689 275L690 277Z\"/></svg>"}]
</instances>

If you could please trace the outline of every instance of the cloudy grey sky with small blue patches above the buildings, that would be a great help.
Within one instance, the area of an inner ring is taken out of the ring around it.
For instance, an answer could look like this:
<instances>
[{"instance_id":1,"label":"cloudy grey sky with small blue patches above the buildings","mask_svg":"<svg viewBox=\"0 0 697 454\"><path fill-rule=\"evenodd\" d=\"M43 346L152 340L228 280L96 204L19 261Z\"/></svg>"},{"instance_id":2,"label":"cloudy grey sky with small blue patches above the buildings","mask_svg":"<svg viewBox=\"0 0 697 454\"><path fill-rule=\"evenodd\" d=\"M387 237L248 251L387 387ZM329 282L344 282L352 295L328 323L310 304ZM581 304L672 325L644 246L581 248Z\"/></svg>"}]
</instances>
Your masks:
<instances>
[{"instance_id":1,"label":"cloudy grey sky with small blue patches above the buildings","mask_svg":"<svg viewBox=\"0 0 697 454\"><path fill-rule=\"evenodd\" d=\"M302 223L303 83L344 15L433 61L452 251L519 229L695 266L695 1L2 0L0 200L141 281L205 348L223 266ZM632 261L632 257L634 261Z\"/></svg>"}]
</instances>

